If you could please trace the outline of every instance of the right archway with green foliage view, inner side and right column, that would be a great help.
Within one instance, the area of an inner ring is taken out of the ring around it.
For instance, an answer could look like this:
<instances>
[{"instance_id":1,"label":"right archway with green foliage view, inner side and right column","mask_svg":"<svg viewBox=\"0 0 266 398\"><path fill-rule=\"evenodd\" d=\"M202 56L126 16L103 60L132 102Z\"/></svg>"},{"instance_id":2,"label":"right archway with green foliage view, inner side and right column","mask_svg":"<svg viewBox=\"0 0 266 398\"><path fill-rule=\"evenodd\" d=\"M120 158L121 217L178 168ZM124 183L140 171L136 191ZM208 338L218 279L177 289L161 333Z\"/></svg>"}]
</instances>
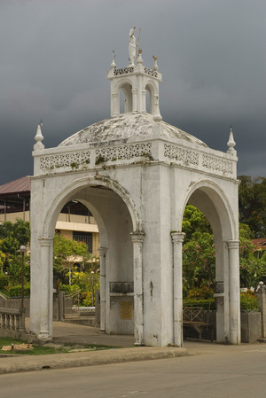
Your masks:
<instances>
[{"instance_id":1,"label":"right archway with green foliage view, inner side and right column","mask_svg":"<svg viewBox=\"0 0 266 398\"><path fill-rule=\"evenodd\" d=\"M212 318L216 340L236 343L240 336L238 216L232 214L228 199L214 183L197 183L186 203L184 307L209 311L202 322L211 324Z\"/></svg>"}]
</instances>

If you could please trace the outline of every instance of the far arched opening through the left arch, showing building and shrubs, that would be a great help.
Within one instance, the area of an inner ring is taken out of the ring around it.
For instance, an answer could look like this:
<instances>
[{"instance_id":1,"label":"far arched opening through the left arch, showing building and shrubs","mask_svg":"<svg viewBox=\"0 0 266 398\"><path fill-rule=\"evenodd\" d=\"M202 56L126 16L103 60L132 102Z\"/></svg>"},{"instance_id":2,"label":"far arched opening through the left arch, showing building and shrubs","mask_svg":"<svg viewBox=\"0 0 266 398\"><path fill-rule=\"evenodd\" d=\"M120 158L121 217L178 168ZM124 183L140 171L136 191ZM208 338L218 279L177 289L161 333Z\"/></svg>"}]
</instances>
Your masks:
<instances>
[{"instance_id":1,"label":"far arched opening through the left arch, showing building and shrubs","mask_svg":"<svg viewBox=\"0 0 266 398\"><path fill-rule=\"evenodd\" d=\"M77 199L68 200L59 213L53 239L53 287L58 296L65 293L64 316L80 315L80 308L89 316L95 306L98 247L98 226L90 209Z\"/></svg>"}]
</instances>

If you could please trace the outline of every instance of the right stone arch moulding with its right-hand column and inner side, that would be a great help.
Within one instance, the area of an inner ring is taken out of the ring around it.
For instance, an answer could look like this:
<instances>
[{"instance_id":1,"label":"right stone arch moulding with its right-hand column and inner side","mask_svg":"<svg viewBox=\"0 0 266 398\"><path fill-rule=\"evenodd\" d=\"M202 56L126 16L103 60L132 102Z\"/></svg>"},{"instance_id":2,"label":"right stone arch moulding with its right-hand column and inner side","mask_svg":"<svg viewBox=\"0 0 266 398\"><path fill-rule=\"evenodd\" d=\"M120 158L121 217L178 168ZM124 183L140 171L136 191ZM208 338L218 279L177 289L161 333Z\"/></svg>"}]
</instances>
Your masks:
<instances>
[{"instance_id":1,"label":"right stone arch moulding with its right-hand column and inner side","mask_svg":"<svg viewBox=\"0 0 266 398\"><path fill-rule=\"evenodd\" d=\"M215 237L215 279L221 289L215 293L216 339L239 344L239 218L232 203L214 181L200 179L186 192L178 228L182 230L187 204L198 207L210 222Z\"/></svg>"}]
</instances>

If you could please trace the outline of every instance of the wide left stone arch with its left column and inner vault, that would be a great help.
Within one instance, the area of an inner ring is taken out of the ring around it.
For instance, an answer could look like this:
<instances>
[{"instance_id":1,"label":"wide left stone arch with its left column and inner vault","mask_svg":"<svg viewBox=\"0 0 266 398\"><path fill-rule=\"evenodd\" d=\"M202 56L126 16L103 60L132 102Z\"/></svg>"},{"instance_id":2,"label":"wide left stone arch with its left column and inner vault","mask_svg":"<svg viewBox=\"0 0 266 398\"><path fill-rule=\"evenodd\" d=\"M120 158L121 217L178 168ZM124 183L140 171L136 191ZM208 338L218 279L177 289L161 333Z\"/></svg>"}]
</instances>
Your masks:
<instances>
[{"instance_id":1,"label":"wide left stone arch with its left column and inner vault","mask_svg":"<svg viewBox=\"0 0 266 398\"><path fill-rule=\"evenodd\" d=\"M86 195L88 196L86 197ZM129 192L120 183L106 176L83 176L77 180L71 177L68 182L66 181L63 189L54 192L54 199L51 199L50 202L48 199L47 207L43 207L45 210L43 212L43 227L39 229L39 233L33 232L33 240L36 245L33 250L32 263L37 266L34 267L32 274L31 314L34 316L31 318L31 331L35 332L39 339L50 339L52 336L52 238L59 212L64 204L71 199L77 199L91 208L98 222L101 246L99 250L101 284L104 281L103 289L101 287L101 296L105 297L103 303L101 299L101 313L103 312L102 308L108 308L105 309L105 316L101 316L101 329L114 334L120 332L133 334L134 328L138 331L139 324L142 325L138 318L137 321L135 319L137 317L135 316L136 305L133 307L135 296L131 295L128 299L134 317L132 316L130 322L121 324L119 320L121 296L118 294L111 297L109 285L111 282L125 282L130 285L133 281L134 286L138 284L139 277L135 284L134 256L136 249L133 250L133 246L141 244L144 233L140 231L141 222L137 207ZM112 213L108 212L106 200L112 208ZM138 234L140 234L140 240L136 238ZM102 262L104 264L103 273ZM40 280L42 280L43 294L39 294ZM142 304L139 305L138 317L139 314L143 316L142 308ZM104 319L103 323L102 318ZM142 341L142 334L142 330L140 333L135 331L136 339Z\"/></svg>"}]
</instances>

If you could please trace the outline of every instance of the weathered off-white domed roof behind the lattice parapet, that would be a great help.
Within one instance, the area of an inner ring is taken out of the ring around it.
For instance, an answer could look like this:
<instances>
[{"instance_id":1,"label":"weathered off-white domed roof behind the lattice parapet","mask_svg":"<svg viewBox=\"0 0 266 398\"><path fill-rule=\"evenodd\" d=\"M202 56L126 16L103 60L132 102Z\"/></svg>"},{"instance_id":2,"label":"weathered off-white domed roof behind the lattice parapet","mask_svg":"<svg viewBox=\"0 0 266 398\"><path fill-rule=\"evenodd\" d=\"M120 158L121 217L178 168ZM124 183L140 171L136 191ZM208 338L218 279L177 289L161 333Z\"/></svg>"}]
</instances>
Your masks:
<instances>
[{"instance_id":1,"label":"weathered off-white domed roof behind the lattice parapet","mask_svg":"<svg viewBox=\"0 0 266 398\"><path fill-rule=\"evenodd\" d=\"M165 121L153 121L153 115L149 113L123 113L118 117L98 121L89 127L82 129L73 136L66 138L59 146L74 144L103 144L112 142L141 141L153 137L153 126L160 124L163 128L162 136L166 138L178 138L188 143L207 147L199 138L193 137Z\"/></svg>"}]
</instances>

